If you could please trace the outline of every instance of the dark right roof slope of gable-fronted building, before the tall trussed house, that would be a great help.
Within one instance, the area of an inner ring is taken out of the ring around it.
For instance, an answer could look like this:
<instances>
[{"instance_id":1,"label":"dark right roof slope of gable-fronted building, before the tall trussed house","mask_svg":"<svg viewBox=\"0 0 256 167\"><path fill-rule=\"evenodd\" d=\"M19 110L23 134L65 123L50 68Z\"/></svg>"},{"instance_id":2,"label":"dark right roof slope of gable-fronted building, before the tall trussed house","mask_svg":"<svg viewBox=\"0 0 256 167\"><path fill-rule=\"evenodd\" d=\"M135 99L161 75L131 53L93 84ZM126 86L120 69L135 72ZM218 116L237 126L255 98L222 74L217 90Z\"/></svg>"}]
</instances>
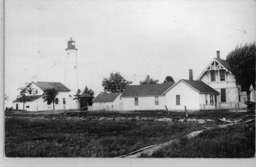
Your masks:
<instances>
[{"instance_id":1,"label":"dark right roof slope of gable-fronted building, before the tall trussed house","mask_svg":"<svg viewBox=\"0 0 256 167\"><path fill-rule=\"evenodd\" d=\"M188 84L189 86L193 87L194 89L196 89L200 93L215 93L215 94L219 94L219 92L217 90L215 90L214 88L212 88L209 85L205 84L203 81L184 80L184 79L181 79L181 81L184 81L186 84Z\"/></svg>"}]
</instances>

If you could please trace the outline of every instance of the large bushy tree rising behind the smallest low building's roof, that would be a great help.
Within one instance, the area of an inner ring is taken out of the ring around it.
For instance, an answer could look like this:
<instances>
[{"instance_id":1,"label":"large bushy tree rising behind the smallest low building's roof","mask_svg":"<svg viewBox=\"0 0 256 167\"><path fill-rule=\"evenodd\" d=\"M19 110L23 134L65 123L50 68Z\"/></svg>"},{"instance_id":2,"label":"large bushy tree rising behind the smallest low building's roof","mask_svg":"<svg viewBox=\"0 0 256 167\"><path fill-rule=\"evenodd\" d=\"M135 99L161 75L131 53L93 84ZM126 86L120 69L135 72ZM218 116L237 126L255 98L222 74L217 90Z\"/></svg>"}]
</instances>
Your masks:
<instances>
[{"instance_id":1,"label":"large bushy tree rising behind the smallest low building's roof","mask_svg":"<svg viewBox=\"0 0 256 167\"><path fill-rule=\"evenodd\" d=\"M104 92L123 92L123 90L133 82L126 81L120 73L110 73L109 78L103 78L101 85L104 88Z\"/></svg>"}]
</instances>

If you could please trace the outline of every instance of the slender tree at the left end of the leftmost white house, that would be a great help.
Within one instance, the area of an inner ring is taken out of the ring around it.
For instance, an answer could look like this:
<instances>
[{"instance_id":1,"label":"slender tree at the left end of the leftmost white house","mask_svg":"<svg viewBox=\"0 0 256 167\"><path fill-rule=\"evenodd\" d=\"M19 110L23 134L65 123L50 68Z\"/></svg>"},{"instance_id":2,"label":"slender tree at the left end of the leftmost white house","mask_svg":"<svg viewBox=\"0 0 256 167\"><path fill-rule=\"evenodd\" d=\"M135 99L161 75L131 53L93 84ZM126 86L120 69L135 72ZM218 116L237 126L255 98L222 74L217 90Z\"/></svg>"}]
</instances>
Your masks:
<instances>
[{"instance_id":1,"label":"slender tree at the left end of the leftmost white house","mask_svg":"<svg viewBox=\"0 0 256 167\"><path fill-rule=\"evenodd\" d=\"M25 83L25 87L20 87L17 90L19 90L19 95L17 96L17 99L19 102L23 102L23 111L25 111L25 103L27 100L29 100L29 97L26 95L29 93L31 94L34 91L34 88L32 88L32 83Z\"/></svg>"}]
</instances>

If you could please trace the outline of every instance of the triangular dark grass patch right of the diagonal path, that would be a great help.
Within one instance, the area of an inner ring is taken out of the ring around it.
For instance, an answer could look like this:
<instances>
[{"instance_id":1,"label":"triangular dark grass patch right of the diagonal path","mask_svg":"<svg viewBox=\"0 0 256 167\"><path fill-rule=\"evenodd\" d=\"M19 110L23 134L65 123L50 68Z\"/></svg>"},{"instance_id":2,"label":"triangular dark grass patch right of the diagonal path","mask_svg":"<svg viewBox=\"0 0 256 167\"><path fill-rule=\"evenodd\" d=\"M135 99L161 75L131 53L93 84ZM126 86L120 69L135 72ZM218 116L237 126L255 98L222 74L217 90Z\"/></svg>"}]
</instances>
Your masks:
<instances>
[{"instance_id":1,"label":"triangular dark grass patch right of the diagonal path","mask_svg":"<svg viewBox=\"0 0 256 167\"><path fill-rule=\"evenodd\" d=\"M190 139L182 137L150 157L252 158L255 157L255 122L250 126L233 125L227 129L207 130Z\"/></svg>"}]
</instances>

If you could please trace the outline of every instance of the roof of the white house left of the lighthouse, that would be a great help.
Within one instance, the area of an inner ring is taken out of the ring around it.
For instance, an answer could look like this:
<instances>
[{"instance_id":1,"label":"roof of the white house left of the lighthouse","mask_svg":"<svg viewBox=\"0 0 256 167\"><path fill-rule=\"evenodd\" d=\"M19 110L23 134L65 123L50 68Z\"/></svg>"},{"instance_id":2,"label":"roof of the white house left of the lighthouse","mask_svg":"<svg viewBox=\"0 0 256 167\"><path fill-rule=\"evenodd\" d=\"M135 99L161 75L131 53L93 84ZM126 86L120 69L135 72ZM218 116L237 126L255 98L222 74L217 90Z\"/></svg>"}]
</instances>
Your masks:
<instances>
[{"instance_id":1,"label":"roof of the white house left of the lighthouse","mask_svg":"<svg viewBox=\"0 0 256 167\"><path fill-rule=\"evenodd\" d=\"M60 82L37 82L37 83L33 82L33 83L39 88L41 88L43 91L45 91L48 88L50 89L54 88L56 91L71 91L69 88L67 88Z\"/></svg>"}]
</instances>

